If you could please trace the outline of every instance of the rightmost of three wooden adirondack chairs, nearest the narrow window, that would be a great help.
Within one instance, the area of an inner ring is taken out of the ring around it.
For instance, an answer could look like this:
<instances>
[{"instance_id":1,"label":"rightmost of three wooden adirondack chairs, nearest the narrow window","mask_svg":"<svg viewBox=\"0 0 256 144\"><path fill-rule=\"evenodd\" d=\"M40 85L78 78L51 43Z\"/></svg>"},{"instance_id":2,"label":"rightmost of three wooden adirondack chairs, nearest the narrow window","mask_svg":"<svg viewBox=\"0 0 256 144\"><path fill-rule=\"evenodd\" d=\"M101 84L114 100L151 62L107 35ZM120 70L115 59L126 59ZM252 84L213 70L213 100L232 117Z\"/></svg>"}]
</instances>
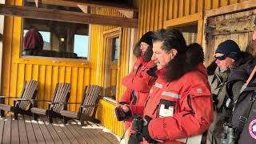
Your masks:
<instances>
[{"instance_id":1,"label":"rightmost of three wooden adirondack chairs, nearest the narrow window","mask_svg":"<svg viewBox=\"0 0 256 144\"><path fill-rule=\"evenodd\" d=\"M100 99L99 94L102 92L102 86L90 85L86 86L82 103L80 105L78 112L62 110L61 114L63 116L64 123L70 118L79 119L81 125L84 126L85 121L99 122L95 119L96 110L98 108L98 101ZM67 104L77 104L77 103L67 103Z\"/></svg>"}]
</instances>

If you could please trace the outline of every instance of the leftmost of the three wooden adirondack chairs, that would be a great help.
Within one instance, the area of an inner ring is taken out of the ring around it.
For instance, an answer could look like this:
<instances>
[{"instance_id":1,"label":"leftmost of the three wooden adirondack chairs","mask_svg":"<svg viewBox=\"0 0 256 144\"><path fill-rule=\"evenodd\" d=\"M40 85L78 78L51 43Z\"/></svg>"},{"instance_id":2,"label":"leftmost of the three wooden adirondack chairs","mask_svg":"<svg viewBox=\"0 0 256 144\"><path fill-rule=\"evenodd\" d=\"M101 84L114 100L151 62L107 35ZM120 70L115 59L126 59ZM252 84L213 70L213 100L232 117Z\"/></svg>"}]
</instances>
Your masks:
<instances>
[{"instance_id":1,"label":"leftmost of the three wooden adirondack chairs","mask_svg":"<svg viewBox=\"0 0 256 144\"><path fill-rule=\"evenodd\" d=\"M38 89L38 81L30 80L24 82L22 94L20 98L14 99L14 106L5 104L5 96L0 96L0 110L1 117L4 116L5 111L14 112L14 119L18 119L18 114L30 114L31 100L36 98ZM13 98L13 97L8 97Z\"/></svg>"}]
</instances>

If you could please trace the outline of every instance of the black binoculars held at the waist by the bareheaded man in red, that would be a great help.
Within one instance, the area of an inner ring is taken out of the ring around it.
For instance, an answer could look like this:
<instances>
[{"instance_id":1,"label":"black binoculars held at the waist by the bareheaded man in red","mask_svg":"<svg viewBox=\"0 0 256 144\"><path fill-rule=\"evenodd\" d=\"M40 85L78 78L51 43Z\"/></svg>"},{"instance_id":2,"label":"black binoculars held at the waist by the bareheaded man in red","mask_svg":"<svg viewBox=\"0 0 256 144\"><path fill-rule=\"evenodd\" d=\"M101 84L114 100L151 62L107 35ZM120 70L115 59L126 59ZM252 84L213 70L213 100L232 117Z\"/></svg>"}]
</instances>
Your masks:
<instances>
[{"instance_id":1,"label":"black binoculars held at the waist by the bareheaded man in red","mask_svg":"<svg viewBox=\"0 0 256 144\"><path fill-rule=\"evenodd\" d=\"M136 114L134 116L134 120L132 122L132 129L137 132L136 137L137 137L138 142L142 142L142 140L143 140L143 136L142 136L143 122L144 121L142 119L142 115Z\"/></svg>"}]
</instances>

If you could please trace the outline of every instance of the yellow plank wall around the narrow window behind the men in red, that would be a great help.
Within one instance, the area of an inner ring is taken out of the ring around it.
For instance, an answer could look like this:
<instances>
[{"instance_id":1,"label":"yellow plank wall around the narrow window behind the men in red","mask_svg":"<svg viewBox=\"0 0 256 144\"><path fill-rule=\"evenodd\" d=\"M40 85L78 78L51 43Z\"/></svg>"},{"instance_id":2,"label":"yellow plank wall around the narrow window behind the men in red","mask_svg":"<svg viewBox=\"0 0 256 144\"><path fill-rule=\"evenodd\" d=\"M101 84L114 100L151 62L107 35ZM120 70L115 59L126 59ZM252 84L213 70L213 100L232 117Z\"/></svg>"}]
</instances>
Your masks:
<instances>
[{"instance_id":1,"label":"yellow plank wall around the narrow window behind the men in red","mask_svg":"<svg viewBox=\"0 0 256 144\"><path fill-rule=\"evenodd\" d=\"M119 13L117 10L110 10L106 8L93 8L92 9L93 14L102 14L102 15L109 15L114 17L124 17L121 13ZM93 25L93 35L92 35L92 41L98 41L99 42L92 42L93 46L92 49L98 50L94 51L91 50L92 59L91 59L91 65L97 66L98 69L94 70L94 67L92 67L92 76L97 76L98 78L92 78L92 83L100 82L102 85L104 82L105 74L103 74L104 66L103 61L105 59L104 57L104 46L103 46L103 32L107 30L112 30L116 28L115 26L96 26ZM122 28L121 29L121 35L119 39L119 51L118 51L118 70L113 70L111 72L111 82L117 81L117 99L119 99L122 96L122 93L125 90L125 87L121 84L122 77L126 76L128 74L128 62L129 62L129 50L130 50L130 28ZM96 57L96 53L98 53L98 56ZM97 65L96 65L97 63ZM115 79L117 78L117 79ZM123 126L122 122L118 122L114 116L114 107L115 104L106 102L105 100L102 100L100 102L97 118L99 118L102 122L103 126L106 126L109 128L114 134L118 134L119 136L122 135Z\"/></svg>"}]
</instances>

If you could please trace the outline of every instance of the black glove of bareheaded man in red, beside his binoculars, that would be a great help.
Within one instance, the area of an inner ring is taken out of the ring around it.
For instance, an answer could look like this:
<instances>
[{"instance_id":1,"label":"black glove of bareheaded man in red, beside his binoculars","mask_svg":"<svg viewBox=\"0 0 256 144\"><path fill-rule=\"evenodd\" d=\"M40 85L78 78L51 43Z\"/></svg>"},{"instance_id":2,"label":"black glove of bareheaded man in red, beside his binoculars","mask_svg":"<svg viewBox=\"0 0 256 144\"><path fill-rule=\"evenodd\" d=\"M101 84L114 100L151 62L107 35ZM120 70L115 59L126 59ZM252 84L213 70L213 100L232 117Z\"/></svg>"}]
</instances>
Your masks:
<instances>
[{"instance_id":1,"label":"black glove of bareheaded man in red, beside his binoculars","mask_svg":"<svg viewBox=\"0 0 256 144\"><path fill-rule=\"evenodd\" d=\"M144 122L143 122L143 127L142 127L142 135L143 137L146 139L147 142L149 143L157 143L156 141L154 141L153 138L150 137L150 133L149 133L149 124L150 121L152 120L152 118L150 118L148 115L145 116L144 118Z\"/></svg>"}]
</instances>

